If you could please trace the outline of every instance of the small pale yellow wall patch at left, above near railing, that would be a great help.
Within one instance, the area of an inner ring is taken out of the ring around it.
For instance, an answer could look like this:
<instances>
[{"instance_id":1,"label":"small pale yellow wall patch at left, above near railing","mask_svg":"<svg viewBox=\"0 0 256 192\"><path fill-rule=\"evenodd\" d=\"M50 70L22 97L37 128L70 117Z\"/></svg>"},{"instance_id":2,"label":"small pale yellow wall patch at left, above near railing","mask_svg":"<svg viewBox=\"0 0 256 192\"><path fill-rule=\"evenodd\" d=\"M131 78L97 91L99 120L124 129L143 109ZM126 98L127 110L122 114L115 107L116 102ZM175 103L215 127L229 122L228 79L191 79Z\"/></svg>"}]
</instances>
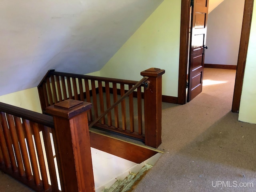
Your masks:
<instances>
[{"instance_id":1,"label":"small pale yellow wall patch at left, above near railing","mask_svg":"<svg viewBox=\"0 0 256 192\"><path fill-rule=\"evenodd\" d=\"M2 95L0 102L42 113L37 87Z\"/></svg>"}]
</instances>

